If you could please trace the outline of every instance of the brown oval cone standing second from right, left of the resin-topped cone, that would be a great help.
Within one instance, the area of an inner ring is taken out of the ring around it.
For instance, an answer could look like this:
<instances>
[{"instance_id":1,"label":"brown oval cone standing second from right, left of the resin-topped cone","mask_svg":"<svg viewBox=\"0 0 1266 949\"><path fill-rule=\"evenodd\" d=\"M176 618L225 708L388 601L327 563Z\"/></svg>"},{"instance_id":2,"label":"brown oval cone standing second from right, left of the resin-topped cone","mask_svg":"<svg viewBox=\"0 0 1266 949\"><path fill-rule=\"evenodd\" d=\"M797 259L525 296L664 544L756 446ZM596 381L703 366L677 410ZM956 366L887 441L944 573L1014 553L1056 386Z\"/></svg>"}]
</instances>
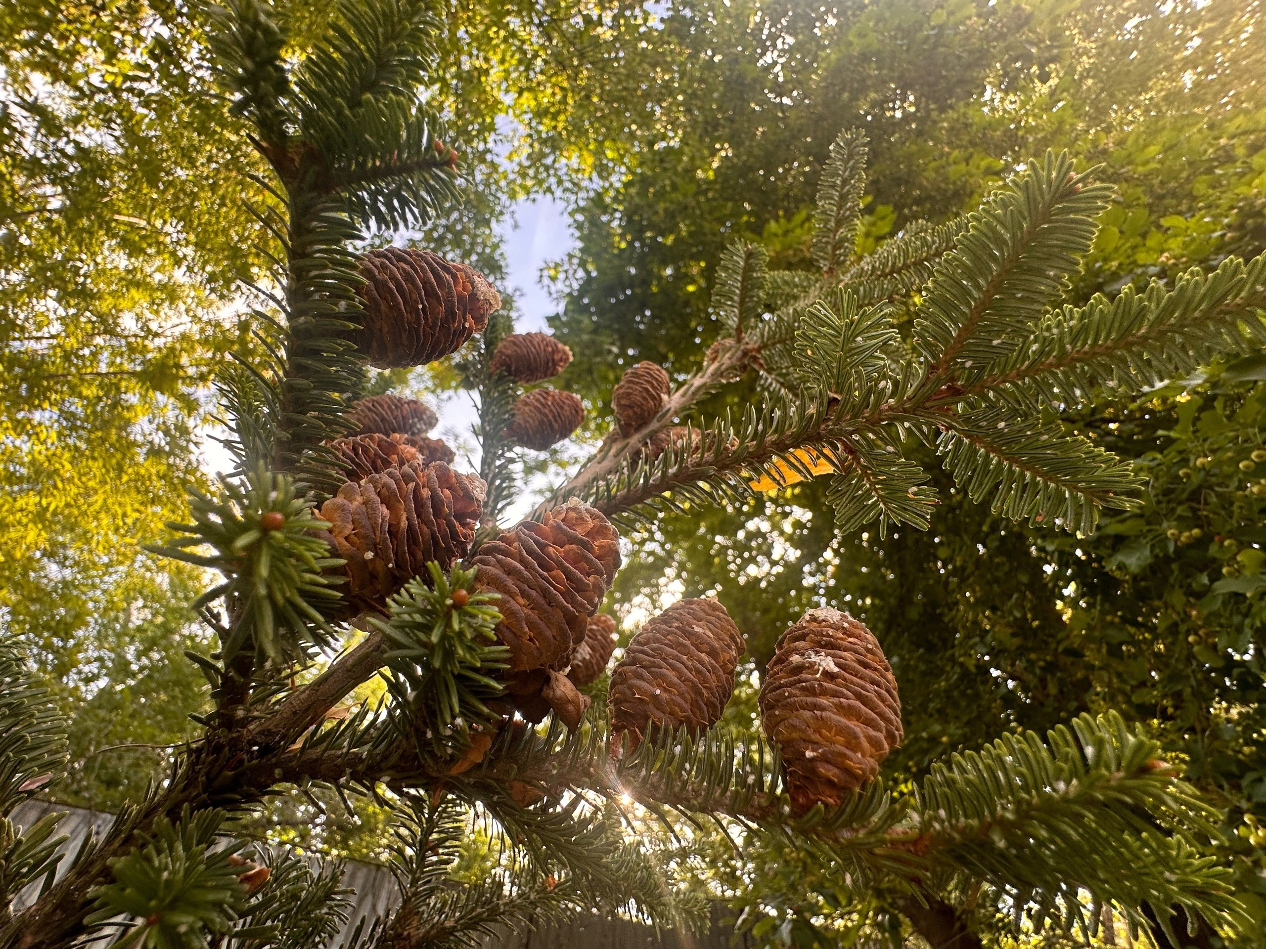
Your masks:
<instances>
[{"instance_id":1,"label":"brown oval cone standing second from right, left of the resin-topped cone","mask_svg":"<svg viewBox=\"0 0 1266 949\"><path fill-rule=\"evenodd\" d=\"M629 731L637 744L649 725L715 725L743 649L742 633L717 600L679 600L652 616L611 673L613 738Z\"/></svg>"}]
</instances>

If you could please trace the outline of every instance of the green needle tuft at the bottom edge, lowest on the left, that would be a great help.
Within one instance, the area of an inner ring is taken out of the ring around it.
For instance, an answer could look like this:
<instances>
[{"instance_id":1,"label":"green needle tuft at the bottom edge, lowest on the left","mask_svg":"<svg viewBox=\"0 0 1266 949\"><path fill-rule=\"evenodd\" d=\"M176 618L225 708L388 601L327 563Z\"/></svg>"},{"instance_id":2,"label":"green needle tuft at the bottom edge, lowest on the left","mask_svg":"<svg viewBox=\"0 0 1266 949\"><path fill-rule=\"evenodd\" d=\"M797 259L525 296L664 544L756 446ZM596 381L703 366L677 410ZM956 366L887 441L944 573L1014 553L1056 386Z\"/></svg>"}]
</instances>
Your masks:
<instances>
[{"instance_id":1,"label":"green needle tuft at the bottom edge, lowest on the left","mask_svg":"<svg viewBox=\"0 0 1266 949\"><path fill-rule=\"evenodd\" d=\"M211 850L223 811L185 811L172 824L154 821L144 844L110 862L113 883L90 895L96 912L87 922L119 925L119 946L142 949L203 949L208 934L225 934L246 905L241 869L230 858L241 844ZM110 924L114 916L128 922Z\"/></svg>"}]
</instances>

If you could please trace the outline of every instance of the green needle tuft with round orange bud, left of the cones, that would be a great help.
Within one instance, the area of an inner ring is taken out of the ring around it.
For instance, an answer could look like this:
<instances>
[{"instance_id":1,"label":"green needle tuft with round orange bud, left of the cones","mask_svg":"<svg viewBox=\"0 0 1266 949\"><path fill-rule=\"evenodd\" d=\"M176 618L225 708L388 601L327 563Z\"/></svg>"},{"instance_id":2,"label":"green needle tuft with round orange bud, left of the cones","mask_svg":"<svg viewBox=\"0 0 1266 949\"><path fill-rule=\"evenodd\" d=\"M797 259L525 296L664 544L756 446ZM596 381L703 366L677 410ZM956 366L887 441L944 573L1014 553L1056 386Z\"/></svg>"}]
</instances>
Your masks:
<instances>
[{"instance_id":1,"label":"green needle tuft with round orange bud, left of the cones","mask_svg":"<svg viewBox=\"0 0 1266 949\"><path fill-rule=\"evenodd\" d=\"M170 525L187 535L154 552L225 576L200 600L223 597L228 606L228 625L206 614L220 636L225 664L243 650L260 664L301 659L310 647L323 647L334 636L314 604L329 610L338 602L338 581L323 576L322 568L341 561L330 558L325 542L310 533L329 525L313 516L311 499L298 496L285 475L261 468L246 483L222 483L219 497L192 496L194 524ZM267 515L281 515L280 525L266 524ZM199 547L210 547L211 553L189 549Z\"/></svg>"}]
</instances>

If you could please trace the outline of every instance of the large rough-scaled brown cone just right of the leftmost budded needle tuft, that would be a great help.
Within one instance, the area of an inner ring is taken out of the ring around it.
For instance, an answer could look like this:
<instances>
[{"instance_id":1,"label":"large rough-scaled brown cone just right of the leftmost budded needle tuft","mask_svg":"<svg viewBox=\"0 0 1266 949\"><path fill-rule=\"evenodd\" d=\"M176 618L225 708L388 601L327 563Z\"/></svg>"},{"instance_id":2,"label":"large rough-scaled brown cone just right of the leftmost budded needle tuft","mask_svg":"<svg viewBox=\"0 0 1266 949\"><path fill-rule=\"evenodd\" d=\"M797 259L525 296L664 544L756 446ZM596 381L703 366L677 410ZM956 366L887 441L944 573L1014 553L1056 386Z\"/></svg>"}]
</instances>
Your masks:
<instances>
[{"instance_id":1,"label":"large rough-scaled brown cone just right of the leftmost budded needle tuft","mask_svg":"<svg viewBox=\"0 0 1266 949\"><path fill-rule=\"evenodd\" d=\"M386 611L386 599L428 561L448 569L470 553L484 501L484 482L447 464L409 462L348 481L320 509L324 534L357 609Z\"/></svg>"}]
</instances>

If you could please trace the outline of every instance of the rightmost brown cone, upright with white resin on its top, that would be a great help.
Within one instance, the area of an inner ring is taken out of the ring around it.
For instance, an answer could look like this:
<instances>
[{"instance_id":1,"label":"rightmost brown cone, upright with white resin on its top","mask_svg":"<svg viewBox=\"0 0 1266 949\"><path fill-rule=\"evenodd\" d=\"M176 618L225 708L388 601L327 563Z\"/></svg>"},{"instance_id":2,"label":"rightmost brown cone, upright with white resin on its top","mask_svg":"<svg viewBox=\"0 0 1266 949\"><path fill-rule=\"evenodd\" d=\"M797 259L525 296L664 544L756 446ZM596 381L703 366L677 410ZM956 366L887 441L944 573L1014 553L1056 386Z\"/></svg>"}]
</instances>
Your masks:
<instances>
[{"instance_id":1,"label":"rightmost brown cone, upright with white resin on its top","mask_svg":"<svg viewBox=\"0 0 1266 949\"><path fill-rule=\"evenodd\" d=\"M884 650L839 610L810 610L782 634L760 706L800 811L838 805L901 741L901 700Z\"/></svg>"}]
</instances>

